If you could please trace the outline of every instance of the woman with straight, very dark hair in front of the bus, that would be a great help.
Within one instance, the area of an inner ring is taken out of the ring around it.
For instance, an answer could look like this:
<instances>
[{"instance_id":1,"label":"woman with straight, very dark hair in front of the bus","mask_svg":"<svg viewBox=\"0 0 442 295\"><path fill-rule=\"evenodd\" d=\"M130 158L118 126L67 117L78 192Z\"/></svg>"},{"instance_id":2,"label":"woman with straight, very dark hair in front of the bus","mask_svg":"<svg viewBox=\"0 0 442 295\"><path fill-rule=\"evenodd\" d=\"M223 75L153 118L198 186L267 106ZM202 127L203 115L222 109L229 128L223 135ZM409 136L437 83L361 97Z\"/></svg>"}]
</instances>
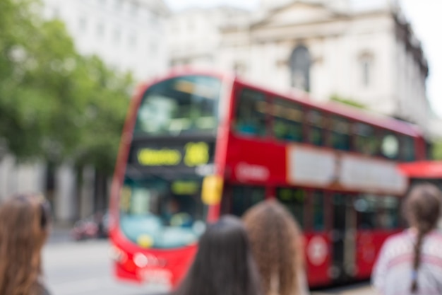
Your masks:
<instances>
[{"instance_id":1,"label":"woman with straight, very dark hair in front of the bus","mask_svg":"<svg viewBox=\"0 0 442 295\"><path fill-rule=\"evenodd\" d=\"M260 295L258 272L243 224L223 216L208 226L176 295Z\"/></svg>"}]
</instances>

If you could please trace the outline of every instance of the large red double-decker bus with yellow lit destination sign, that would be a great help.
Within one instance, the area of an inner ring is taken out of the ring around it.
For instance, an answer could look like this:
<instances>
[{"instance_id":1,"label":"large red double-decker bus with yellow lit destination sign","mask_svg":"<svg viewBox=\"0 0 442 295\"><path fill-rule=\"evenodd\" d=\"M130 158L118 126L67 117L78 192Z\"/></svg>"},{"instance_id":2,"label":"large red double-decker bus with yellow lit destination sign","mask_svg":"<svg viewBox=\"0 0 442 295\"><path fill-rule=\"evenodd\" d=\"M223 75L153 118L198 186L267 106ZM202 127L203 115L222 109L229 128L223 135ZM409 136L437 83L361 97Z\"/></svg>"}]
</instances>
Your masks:
<instances>
[{"instance_id":1,"label":"large red double-decker bus with yellow lit destination sign","mask_svg":"<svg viewBox=\"0 0 442 295\"><path fill-rule=\"evenodd\" d=\"M174 286L208 222L276 198L306 236L311 287L367 278L401 228L397 165L424 157L405 122L172 71L143 86L127 116L112 185L115 274Z\"/></svg>"}]
</instances>

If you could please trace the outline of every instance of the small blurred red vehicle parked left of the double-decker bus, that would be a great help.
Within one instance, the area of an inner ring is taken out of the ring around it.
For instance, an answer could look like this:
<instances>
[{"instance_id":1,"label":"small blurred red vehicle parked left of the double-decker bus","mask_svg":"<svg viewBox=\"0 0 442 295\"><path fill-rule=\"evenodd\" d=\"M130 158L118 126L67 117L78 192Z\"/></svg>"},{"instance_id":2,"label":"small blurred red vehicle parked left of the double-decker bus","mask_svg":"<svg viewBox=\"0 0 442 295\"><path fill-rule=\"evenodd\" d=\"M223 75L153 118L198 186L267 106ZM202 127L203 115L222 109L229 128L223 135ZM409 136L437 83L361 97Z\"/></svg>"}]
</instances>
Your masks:
<instances>
[{"instance_id":1,"label":"small blurred red vehicle parked left of the double-decker bus","mask_svg":"<svg viewBox=\"0 0 442 295\"><path fill-rule=\"evenodd\" d=\"M109 236L109 213L96 212L92 216L76 221L73 224L71 236L76 241L89 238L107 238Z\"/></svg>"}]
</instances>

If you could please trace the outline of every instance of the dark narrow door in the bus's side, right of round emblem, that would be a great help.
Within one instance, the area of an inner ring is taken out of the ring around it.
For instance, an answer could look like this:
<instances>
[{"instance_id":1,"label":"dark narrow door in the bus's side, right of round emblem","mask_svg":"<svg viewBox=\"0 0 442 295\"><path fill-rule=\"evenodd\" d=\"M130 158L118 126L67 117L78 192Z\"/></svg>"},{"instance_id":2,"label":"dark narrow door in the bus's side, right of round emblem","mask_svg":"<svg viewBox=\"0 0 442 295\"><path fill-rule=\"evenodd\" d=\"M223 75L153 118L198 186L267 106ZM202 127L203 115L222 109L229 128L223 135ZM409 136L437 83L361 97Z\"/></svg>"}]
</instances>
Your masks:
<instances>
[{"instance_id":1,"label":"dark narrow door in the bus's side, right of round emblem","mask_svg":"<svg viewBox=\"0 0 442 295\"><path fill-rule=\"evenodd\" d=\"M330 277L334 282L345 282L354 276L355 267L355 233L356 214L352 206L352 195L333 193L333 265Z\"/></svg>"}]
</instances>

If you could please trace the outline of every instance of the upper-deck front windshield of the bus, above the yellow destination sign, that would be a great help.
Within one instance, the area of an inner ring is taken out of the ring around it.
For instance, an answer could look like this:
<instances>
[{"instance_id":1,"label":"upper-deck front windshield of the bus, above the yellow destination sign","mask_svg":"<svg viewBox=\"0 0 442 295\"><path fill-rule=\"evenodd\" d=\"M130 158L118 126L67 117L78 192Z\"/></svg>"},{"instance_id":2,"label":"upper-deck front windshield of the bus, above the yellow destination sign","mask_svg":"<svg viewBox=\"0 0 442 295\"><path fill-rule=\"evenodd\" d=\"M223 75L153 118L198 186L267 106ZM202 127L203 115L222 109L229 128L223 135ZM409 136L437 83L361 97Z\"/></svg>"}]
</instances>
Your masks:
<instances>
[{"instance_id":1,"label":"upper-deck front windshield of the bus, above the yellow destination sign","mask_svg":"<svg viewBox=\"0 0 442 295\"><path fill-rule=\"evenodd\" d=\"M182 76L151 86L141 101L135 134L215 130L220 89L220 79L211 76Z\"/></svg>"}]
</instances>

